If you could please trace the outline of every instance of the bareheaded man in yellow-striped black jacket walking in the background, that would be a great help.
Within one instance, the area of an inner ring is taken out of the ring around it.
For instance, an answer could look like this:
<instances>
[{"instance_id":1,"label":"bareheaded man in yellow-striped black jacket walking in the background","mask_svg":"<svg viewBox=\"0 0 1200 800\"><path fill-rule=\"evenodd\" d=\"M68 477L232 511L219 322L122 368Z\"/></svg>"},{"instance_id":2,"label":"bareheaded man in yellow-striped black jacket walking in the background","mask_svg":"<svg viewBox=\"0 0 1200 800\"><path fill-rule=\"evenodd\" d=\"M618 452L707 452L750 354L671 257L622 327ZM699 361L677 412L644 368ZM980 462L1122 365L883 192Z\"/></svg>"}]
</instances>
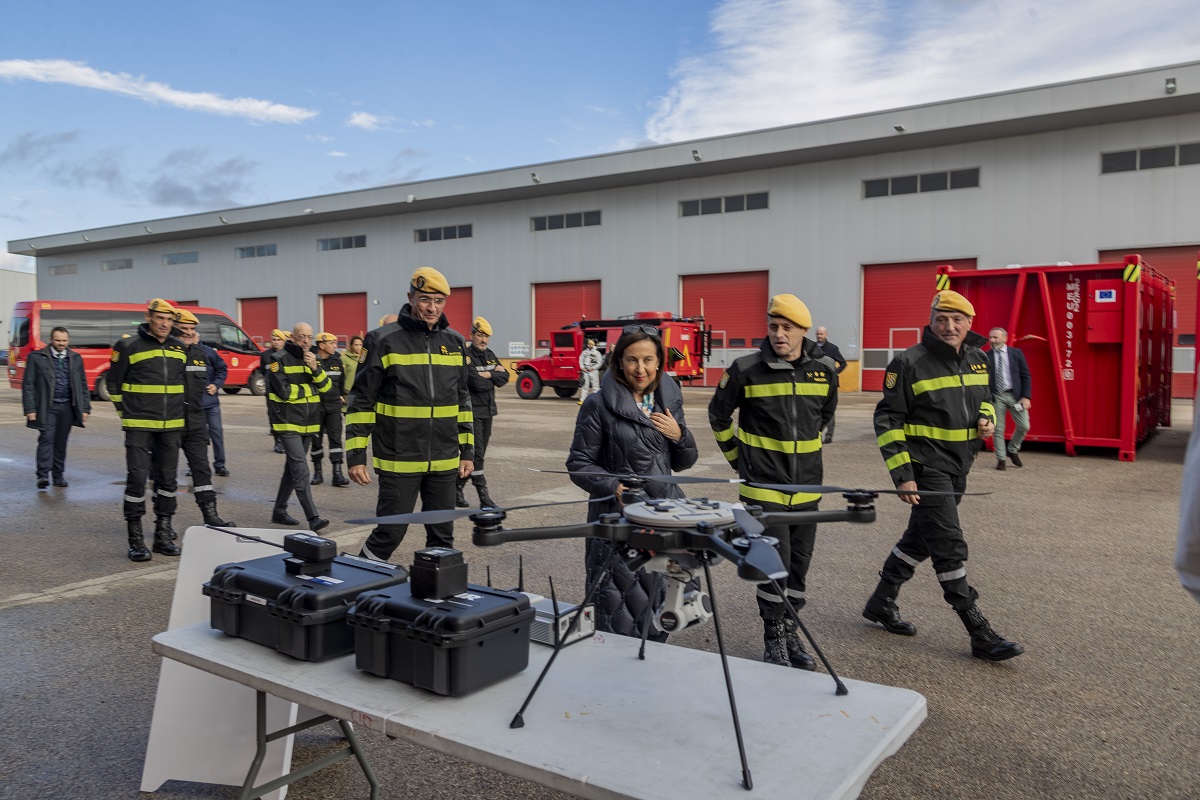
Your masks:
<instances>
[{"instance_id":1,"label":"bareheaded man in yellow-striped black jacket walking in the background","mask_svg":"<svg viewBox=\"0 0 1200 800\"><path fill-rule=\"evenodd\" d=\"M280 477L280 489L275 494L271 522L277 525L299 525L300 521L288 513L288 498L295 492L300 509L313 533L329 525L317 513L312 501L308 476L310 439L320 431L317 409L320 396L331 387L325 371L317 362L312 345L312 326L296 323L292 336L282 349L275 353L266 367L268 402L275 405L275 422L271 425L280 444L283 445L286 463Z\"/></svg>"}]
</instances>

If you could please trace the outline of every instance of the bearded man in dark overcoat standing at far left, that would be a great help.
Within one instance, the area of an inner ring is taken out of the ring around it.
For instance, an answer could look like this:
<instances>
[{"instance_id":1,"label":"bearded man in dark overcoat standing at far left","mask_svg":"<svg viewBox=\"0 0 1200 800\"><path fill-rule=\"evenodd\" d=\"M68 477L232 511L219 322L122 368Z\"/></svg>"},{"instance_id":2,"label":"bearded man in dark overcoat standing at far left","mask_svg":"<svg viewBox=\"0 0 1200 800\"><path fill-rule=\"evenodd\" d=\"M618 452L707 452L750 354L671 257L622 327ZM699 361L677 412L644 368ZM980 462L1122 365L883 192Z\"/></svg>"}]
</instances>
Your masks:
<instances>
[{"instance_id":1,"label":"bearded man in dark overcoat standing at far left","mask_svg":"<svg viewBox=\"0 0 1200 800\"><path fill-rule=\"evenodd\" d=\"M65 327L50 331L50 343L29 354L20 399L25 426L37 434L37 488L66 486L62 470L67 459L71 426L83 427L91 414L91 393L83 359L70 349L71 335Z\"/></svg>"}]
</instances>

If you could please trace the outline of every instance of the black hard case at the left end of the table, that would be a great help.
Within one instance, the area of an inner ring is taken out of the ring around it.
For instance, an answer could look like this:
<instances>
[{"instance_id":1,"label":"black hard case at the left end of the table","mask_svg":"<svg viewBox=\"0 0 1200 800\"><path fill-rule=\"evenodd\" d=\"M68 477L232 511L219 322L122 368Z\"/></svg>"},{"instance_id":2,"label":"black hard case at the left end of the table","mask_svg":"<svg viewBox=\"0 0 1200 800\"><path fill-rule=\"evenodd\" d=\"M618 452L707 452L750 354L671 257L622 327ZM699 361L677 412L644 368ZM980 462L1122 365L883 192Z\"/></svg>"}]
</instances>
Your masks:
<instances>
[{"instance_id":1,"label":"black hard case at the left end of the table","mask_svg":"<svg viewBox=\"0 0 1200 800\"><path fill-rule=\"evenodd\" d=\"M365 591L407 578L394 565L340 555L322 575L289 575L290 553L222 564L204 584L212 599L214 628L275 648L304 661L328 661L354 651L346 613Z\"/></svg>"}]
</instances>

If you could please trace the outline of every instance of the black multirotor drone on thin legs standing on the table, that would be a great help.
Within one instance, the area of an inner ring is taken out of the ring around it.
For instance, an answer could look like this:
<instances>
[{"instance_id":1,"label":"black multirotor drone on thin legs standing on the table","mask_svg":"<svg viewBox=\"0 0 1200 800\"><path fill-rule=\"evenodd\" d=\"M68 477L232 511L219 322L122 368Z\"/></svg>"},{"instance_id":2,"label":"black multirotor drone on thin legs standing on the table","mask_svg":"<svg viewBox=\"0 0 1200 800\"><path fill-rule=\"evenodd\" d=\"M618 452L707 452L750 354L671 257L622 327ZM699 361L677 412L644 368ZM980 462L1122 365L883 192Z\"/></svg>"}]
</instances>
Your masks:
<instances>
[{"instance_id":1,"label":"black multirotor drone on thin legs standing on the table","mask_svg":"<svg viewBox=\"0 0 1200 800\"><path fill-rule=\"evenodd\" d=\"M548 474L565 474L565 470L533 470ZM431 524L469 518L473 524L472 542L476 547L494 547L509 542L533 542L556 539L593 539L610 542L608 559L605 567L586 589L583 601L577 606L566 634L556 637L554 651L526 697L521 709L509 723L510 728L524 727L524 712L533 702L538 688L550 673L559 651L569 642L570 633L578 625L584 608L592 602L596 590L606 581L608 572L618 560L623 560L630 570L646 569L667 578L666 596L647 618L642 626L642 645L638 658L646 658L646 642L650 627L672 633L701 625L712 620L715 628L721 668L725 673L725 688L728 694L730 711L733 717L733 730L738 742L738 756L742 760L742 783L746 789L754 788L750 766L746 760L745 745L742 739L742 726L738 720L737 702L733 696L733 682L730 676L728 656L725 639L721 634L720 616L713 589L710 566L728 561L737 569L740 579L751 583L773 583L784 601L786 613L804 633L812 651L824 664L836 687L835 693L847 694L850 690L838 676L833 664L817 645L796 608L787 600L782 581L787 578L784 565L775 548L779 540L768 536L767 530L775 525L851 522L870 523L875 521L875 499L880 494L988 494L931 492L907 489L863 489L839 486L788 485L788 483L749 483L750 486L775 489L786 493L841 494L846 507L839 510L810 511L764 511L760 506L725 503L709 498L650 498L646 485L659 483L743 483L740 479L697 477L690 475L631 475L616 473L592 473L588 475L616 477L625 487L619 500L620 512L601 513L593 522L548 525L541 528L505 529L503 523L510 511L536 509L544 506L571 505L577 503L606 503L613 495L590 498L588 500L566 500L533 505L482 509L445 509L437 511L418 511L413 513L371 517L366 519L347 519L355 524ZM698 585L703 573L707 591Z\"/></svg>"}]
</instances>

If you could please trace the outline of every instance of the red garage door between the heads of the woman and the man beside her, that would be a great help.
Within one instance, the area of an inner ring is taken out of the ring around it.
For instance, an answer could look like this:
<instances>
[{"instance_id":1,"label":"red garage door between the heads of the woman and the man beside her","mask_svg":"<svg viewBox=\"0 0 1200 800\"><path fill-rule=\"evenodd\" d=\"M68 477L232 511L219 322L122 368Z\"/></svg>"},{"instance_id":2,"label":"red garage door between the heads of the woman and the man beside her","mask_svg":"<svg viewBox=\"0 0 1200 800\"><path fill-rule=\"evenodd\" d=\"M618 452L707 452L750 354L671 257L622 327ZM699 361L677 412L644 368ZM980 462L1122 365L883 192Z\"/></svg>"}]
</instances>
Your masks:
<instances>
[{"instance_id":1,"label":"red garage door between the heads of the woman and the man beside her","mask_svg":"<svg viewBox=\"0 0 1200 800\"><path fill-rule=\"evenodd\" d=\"M683 315L703 314L704 326L713 329L706 386L720 380L726 366L762 343L767 335L769 278L766 270L683 276Z\"/></svg>"}]
</instances>

